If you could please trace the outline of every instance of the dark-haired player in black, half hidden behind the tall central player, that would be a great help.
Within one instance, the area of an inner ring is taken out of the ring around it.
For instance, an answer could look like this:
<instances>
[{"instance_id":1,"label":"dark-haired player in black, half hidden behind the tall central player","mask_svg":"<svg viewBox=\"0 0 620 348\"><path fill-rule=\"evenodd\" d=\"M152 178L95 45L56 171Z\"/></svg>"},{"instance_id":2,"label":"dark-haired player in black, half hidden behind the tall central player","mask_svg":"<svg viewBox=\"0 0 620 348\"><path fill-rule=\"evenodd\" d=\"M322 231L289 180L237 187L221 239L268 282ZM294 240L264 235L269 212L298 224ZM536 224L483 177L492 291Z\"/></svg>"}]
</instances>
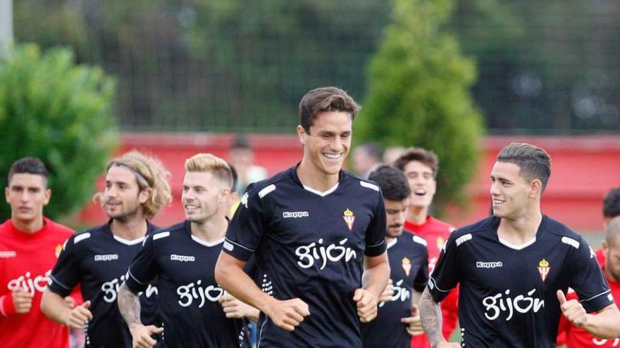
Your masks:
<instances>
[{"instance_id":1,"label":"dark-haired player in black, half hidden behind the tall central player","mask_svg":"<svg viewBox=\"0 0 620 348\"><path fill-rule=\"evenodd\" d=\"M426 240L402 232L411 195L402 171L382 165L368 179L376 181L383 192L385 241L394 294L389 302L379 304L375 320L361 325L362 342L365 348L409 348L410 335L422 333L417 304L428 281Z\"/></svg>"}]
</instances>

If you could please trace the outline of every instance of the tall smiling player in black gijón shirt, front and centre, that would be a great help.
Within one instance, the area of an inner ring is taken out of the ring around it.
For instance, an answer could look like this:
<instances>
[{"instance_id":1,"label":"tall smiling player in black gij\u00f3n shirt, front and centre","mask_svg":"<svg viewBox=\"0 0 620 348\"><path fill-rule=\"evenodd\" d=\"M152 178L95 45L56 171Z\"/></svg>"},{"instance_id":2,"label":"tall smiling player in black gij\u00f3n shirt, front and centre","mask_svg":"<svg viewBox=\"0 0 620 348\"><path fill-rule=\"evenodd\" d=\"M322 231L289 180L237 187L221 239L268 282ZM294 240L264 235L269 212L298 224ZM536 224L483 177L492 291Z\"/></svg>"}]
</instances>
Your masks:
<instances>
[{"instance_id":1,"label":"tall smiling player in black gij\u00f3n shirt, front and centre","mask_svg":"<svg viewBox=\"0 0 620 348\"><path fill-rule=\"evenodd\" d=\"M261 310L259 347L361 347L359 323L376 316L390 276L383 197L342 171L357 111L341 89L309 91L302 161L249 186L230 222L216 279ZM252 255L262 291L243 271Z\"/></svg>"}]
</instances>

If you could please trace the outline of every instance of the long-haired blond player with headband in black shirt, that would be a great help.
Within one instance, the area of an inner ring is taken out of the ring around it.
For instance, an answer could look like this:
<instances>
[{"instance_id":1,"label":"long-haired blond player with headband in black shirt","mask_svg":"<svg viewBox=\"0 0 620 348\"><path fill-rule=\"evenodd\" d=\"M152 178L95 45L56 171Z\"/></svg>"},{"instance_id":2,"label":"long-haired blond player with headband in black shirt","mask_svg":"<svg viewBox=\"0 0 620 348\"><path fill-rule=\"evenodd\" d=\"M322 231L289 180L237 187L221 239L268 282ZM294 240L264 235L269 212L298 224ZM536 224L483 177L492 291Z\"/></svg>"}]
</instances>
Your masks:
<instances>
[{"instance_id":1,"label":"long-haired blond player with headband in black shirt","mask_svg":"<svg viewBox=\"0 0 620 348\"><path fill-rule=\"evenodd\" d=\"M156 228L149 219L171 201L168 176L159 160L137 151L112 160L105 189L95 195L109 221L70 238L51 272L41 309L58 323L85 328L86 347L131 347L116 305L118 288L144 236ZM85 302L68 309L62 298L77 285ZM150 287L140 297L147 323L159 323L156 293Z\"/></svg>"}]
</instances>

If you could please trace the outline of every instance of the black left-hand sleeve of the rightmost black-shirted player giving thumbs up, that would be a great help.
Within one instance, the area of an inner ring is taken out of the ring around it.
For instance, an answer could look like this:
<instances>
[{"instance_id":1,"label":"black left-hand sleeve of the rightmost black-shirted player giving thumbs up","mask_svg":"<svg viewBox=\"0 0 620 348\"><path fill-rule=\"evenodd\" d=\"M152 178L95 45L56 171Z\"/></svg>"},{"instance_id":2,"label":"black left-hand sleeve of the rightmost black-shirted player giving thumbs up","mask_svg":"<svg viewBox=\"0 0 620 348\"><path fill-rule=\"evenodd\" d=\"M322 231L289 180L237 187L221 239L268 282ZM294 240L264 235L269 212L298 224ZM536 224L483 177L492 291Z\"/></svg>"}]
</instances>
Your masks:
<instances>
[{"instance_id":1,"label":"black left-hand sleeve of the rightmost black-shirted player giving thumbs up","mask_svg":"<svg viewBox=\"0 0 620 348\"><path fill-rule=\"evenodd\" d=\"M468 235L461 238L466 236ZM428 290L435 302L441 302L460 281L459 245L457 245L457 233L452 233L439 254L433 274L428 279Z\"/></svg>"}]
</instances>

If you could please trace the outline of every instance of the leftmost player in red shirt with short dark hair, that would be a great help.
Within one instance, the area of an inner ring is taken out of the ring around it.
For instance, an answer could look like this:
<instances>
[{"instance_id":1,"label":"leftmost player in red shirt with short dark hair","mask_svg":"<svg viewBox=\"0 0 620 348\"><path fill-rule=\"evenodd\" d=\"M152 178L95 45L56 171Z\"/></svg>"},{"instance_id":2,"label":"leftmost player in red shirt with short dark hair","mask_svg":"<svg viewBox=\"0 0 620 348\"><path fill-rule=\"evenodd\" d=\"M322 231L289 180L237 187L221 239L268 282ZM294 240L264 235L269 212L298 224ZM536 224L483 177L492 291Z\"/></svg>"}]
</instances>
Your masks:
<instances>
[{"instance_id":1,"label":"leftmost player in red shirt with short dark hair","mask_svg":"<svg viewBox=\"0 0 620 348\"><path fill-rule=\"evenodd\" d=\"M51 267L73 235L70 228L43 216L51 197L43 162L33 157L14 162L4 197L11 219L0 224L0 345L68 348L68 328L39 309ZM61 302L70 310L65 299Z\"/></svg>"}]
</instances>

